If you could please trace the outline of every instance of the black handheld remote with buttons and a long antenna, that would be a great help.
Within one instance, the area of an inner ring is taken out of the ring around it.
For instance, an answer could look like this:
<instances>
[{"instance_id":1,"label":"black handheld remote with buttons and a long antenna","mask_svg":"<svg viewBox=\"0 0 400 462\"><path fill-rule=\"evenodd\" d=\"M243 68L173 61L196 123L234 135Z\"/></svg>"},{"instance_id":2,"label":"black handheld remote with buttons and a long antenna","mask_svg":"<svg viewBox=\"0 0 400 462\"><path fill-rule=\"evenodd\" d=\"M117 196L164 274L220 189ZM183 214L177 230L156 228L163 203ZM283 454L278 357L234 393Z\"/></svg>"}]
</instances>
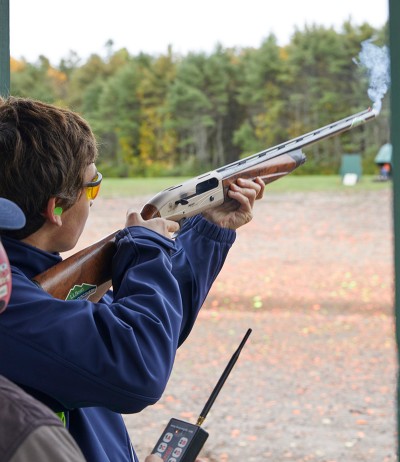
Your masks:
<instances>
[{"instance_id":1,"label":"black handheld remote with buttons and a long antenna","mask_svg":"<svg viewBox=\"0 0 400 462\"><path fill-rule=\"evenodd\" d=\"M195 462L208 438L208 433L200 425L204 422L250 334L251 329L246 332L238 349L230 359L204 409L201 411L196 425L183 420L171 419L157 441L152 454L161 457L164 462Z\"/></svg>"}]
</instances>

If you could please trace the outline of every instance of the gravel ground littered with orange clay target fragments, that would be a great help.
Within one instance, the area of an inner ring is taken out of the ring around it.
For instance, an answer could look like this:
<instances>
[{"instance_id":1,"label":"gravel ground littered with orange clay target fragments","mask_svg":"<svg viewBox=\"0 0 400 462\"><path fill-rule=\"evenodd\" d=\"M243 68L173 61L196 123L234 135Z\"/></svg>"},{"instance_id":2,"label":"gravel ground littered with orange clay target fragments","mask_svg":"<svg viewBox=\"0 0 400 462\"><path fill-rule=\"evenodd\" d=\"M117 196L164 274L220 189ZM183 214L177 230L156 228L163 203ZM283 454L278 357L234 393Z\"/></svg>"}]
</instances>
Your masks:
<instances>
[{"instance_id":1,"label":"gravel ground littered with orange clay target fragments","mask_svg":"<svg viewBox=\"0 0 400 462\"><path fill-rule=\"evenodd\" d=\"M145 199L99 198L81 246ZM239 230L163 398L124 416L141 460L171 417L196 422L248 328L203 424L203 458L397 460L392 259L389 190L267 193Z\"/></svg>"}]
</instances>

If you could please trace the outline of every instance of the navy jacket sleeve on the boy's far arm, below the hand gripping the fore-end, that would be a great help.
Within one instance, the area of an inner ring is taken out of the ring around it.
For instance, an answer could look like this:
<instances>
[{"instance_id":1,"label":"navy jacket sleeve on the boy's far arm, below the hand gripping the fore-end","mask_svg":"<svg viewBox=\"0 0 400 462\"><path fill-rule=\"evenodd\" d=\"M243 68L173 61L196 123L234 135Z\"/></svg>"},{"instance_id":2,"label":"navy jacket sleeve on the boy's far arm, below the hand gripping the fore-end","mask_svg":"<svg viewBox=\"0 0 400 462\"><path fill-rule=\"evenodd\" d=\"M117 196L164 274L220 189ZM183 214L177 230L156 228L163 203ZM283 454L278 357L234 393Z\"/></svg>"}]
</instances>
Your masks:
<instances>
[{"instance_id":1,"label":"navy jacket sleeve on the boy's far arm, below the hand gripping the fore-end","mask_svg":"<svg viewBox=\"0 0 400 462\"><path fill-rule=\"evenodd\" d=\"M235 238L235 231L220 228L200 215L183 225L176 240L177 251L172 256L172 272L183 305L179 344L189 335Z\"/></svg>"}]
</instances>

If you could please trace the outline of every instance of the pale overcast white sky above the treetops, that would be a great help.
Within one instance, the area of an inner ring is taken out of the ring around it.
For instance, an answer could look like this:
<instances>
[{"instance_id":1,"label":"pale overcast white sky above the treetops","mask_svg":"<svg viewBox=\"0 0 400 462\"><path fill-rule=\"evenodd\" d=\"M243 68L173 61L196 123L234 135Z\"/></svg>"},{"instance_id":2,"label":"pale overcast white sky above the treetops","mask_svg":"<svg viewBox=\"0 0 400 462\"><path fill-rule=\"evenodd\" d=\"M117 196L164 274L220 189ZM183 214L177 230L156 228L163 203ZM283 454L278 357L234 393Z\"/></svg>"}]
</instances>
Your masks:
<instances>
[{"instance_id":1,"label":"pale overcast white sky above the treetops","mask_svg":"<svg viewBox=\"0 0 400 462\"><path fill-rule=\"evenodd\" d=\"M134 55L165 53L169 44L185 55L217 43L258 47L270 33L285 45L306 24L381 27L387 18L388 0L10 0L10 51L56 65L70 50L104 56L111 39Z\"/></svg>"}]
</instances>

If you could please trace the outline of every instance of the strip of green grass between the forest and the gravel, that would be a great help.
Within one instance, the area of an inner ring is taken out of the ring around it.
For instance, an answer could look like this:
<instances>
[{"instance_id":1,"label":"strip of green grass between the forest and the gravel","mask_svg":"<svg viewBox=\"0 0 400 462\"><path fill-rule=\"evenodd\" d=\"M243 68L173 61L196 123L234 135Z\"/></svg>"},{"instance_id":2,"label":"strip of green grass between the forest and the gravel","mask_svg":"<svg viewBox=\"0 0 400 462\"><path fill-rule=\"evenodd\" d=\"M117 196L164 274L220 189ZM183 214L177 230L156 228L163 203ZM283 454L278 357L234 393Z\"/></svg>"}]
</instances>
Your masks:
<instances>
[{"instance_id":1,"label":"strip of green grass between the forest and the gravel","mask_svg":"<svg viewBox=\"0 0 400 462\"><path fill-rule=\"evenodd\" d=\"M374 181L375 175L364 175L355 186L344 186L338 175L288 175L267 186L269 193L332 191L357 192L389 189L390 181ZM183 183L188 178L105 178L101 186L103 197L134 197L156 194Z\"/></svg>"}]
</instances>

